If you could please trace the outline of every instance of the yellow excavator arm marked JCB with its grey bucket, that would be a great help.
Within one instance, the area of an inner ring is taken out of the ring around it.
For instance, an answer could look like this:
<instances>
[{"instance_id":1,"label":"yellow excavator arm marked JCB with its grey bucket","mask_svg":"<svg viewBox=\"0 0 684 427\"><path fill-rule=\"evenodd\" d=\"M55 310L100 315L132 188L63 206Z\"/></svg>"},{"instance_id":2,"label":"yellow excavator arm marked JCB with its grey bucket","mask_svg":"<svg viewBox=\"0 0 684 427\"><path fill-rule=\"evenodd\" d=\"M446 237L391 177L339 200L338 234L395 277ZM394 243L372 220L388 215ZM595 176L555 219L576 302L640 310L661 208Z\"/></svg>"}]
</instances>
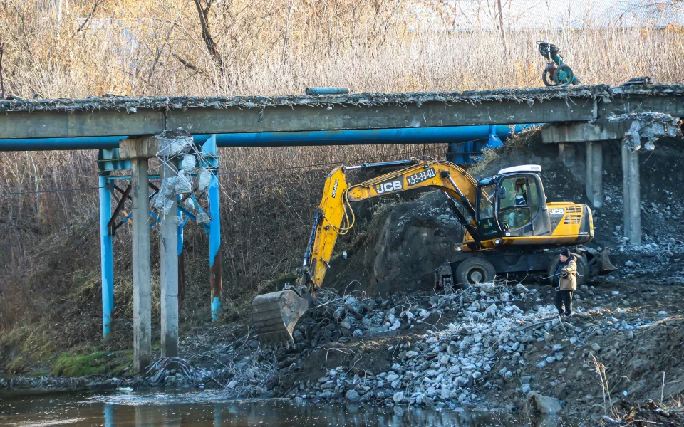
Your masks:
<instances>
[{"instance_id":1,"label":"yellow excavator arm marked JCB with its grey bucket","mask_svg":"<svg viewBox=\"0 0 684 427\"><path fill-rule=\"evenodd\" d=\"M387 166L407 167L369 179L361 184L350 185L347 182L347 171ZM299 287L259 295L252 301L255 326L261 341L294 347L292 337L294 326L299 317L306 312L309 302L314 302L316 292L323 284L323 278L330 268L331 255L337 238L346 234L354 226L356 218L351 209L351 202L423 187L432 187L444 192L450 201L452 211L477 244L479 233L474 221L477 182L455 164L407 159L398 162L337 167L327 176L323 199L316 209L314 226L304 253ZM462 214L455 201L460 202L470 219Z\"/></svg>"}]
</instances>

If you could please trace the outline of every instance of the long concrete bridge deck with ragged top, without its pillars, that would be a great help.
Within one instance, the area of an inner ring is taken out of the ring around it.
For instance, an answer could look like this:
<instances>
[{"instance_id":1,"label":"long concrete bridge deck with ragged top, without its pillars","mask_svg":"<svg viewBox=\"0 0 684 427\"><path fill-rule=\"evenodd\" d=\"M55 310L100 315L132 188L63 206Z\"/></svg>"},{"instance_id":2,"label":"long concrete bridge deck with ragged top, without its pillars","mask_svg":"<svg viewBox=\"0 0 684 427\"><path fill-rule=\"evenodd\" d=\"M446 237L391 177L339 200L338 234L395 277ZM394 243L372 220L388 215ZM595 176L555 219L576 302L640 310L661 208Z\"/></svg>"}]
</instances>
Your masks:
<instances>
[{"instance_id":1,"label":"long concrete bridge deck with ragged top, without its pillars","mask_svg":"<svg viewBox=\"0 0 684 427\"><path fill-rule=\"evenodd\" d=\"M2 100L0 139L589 122L626 112L684 117L684 85L464 92Z\"/></svg>"}]
</instances>

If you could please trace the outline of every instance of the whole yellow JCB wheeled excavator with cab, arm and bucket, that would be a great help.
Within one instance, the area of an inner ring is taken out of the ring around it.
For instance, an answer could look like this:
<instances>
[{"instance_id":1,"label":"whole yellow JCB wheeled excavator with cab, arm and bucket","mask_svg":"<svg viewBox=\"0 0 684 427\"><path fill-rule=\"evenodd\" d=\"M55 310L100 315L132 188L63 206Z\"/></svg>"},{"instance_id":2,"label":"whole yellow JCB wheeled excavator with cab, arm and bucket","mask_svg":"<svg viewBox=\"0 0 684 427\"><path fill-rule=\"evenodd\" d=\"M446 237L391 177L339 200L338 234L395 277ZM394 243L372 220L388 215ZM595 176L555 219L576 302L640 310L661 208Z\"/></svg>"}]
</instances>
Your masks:
<instances>
[{"instance_id":1,"label":"whole yellow JCB wheeled excavator with cab, arm and bucket","mask_svg":"<svg viewBox=\"0 0 684 427\"><path fill-rule=\"evenodd\" d=\"M354 169L392 166L405 168L356 185L346 179L346 172ZM465 238L455 247L455 258L435 270L438 288L485 283L499 273L543 270L551 276L558 257L548 250L591 241L594 223L589 206L547 202L540 173L538 165L522 165L478 182L461 167L432 159L333 169L316 210L299 283L252 301L259 339L264 344L294 347L294 327L309 304L316 304L316 292L330 268L336 240L354 226L351 202L371 197L423 187L445 194L465 228ZM616 270L608 260L607 248L601 253L577 251L576 255L579 285L586 283L589 275Z\"/></svg>"}]
</instances>

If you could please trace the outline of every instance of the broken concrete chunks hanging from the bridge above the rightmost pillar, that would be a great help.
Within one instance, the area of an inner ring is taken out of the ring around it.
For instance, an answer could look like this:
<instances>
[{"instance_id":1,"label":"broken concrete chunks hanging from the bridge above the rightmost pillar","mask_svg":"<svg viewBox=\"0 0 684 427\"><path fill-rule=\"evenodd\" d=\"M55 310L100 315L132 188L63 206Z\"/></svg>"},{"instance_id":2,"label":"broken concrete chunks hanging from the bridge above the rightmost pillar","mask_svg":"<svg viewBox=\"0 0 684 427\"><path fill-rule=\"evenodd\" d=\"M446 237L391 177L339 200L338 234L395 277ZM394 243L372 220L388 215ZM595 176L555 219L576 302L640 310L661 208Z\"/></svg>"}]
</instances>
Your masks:
<instances>
[{"instance_id":1,"label":"broken concrete chunks hanging from the bridge above the rightmost pillar","mask_svg":"<svg viewBox=\"0 0 684 427\"><path fill-rule=\"evenodd\" d=\"M631 112L618 117L611 117L608 121L616 122L630 120L632 125L623 138L631 151L641 149L641 140L646 139L643 148L646 151L655 149L655 141L661 137L676 137L680 133L680 120L661 112Z\"/></svg>"}]
</instances>

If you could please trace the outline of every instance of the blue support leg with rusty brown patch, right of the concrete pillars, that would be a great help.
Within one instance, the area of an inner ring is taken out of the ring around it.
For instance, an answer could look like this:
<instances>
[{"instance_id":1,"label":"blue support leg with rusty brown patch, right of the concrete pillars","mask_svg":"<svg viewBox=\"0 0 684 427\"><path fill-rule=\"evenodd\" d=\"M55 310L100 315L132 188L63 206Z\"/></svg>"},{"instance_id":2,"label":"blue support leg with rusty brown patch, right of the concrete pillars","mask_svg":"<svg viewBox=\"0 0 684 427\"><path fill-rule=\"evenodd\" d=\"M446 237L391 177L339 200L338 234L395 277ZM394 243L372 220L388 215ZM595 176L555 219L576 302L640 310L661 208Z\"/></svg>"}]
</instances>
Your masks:
<instances>
[{"instance_id":1,"label":"blue support leg with rusty brown patch, right of the concrete pillars","mask_svg":"<svg viewBox=\"0 0 684 427\"><path fill-rule=\"evenodd\" d=\"M223 292L223 278L221 270L221 218L219 205L219 179L217 170L218 149L217 135L211 135L202 145L202 166L212 171L209 183L209 285L212 288L212 322L219 319L221 314L221 294Z\"/></svg>"}]
</instances>

